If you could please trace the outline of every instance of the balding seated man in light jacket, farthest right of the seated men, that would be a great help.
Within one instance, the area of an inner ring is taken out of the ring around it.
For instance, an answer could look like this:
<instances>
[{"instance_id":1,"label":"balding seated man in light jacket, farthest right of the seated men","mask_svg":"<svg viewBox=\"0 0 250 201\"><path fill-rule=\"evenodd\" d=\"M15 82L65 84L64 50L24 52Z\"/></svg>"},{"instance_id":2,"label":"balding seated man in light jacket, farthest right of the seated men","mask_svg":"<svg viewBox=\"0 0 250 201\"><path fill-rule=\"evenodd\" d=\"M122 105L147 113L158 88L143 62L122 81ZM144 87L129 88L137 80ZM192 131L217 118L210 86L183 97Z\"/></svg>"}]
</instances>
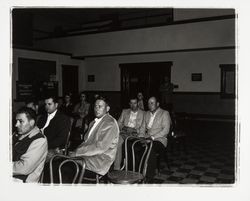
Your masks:
<instances>
[{"instance_id":1,"label":"balding seated man in light jacket, farthest right of the seated men","mask_svg":"<svg viewBox=\"0 0 250 201\"><path fill-rule=\"evenodd\" d=\"M140 137L153 140L153 147L148 161L147 177L152 179L156 169L156 153L163 155L167 146L167 135L170 130L171 118L168 111L159 107L156 97L148 100L149 111L146 112Z\"/></svg>"}]
</instances>

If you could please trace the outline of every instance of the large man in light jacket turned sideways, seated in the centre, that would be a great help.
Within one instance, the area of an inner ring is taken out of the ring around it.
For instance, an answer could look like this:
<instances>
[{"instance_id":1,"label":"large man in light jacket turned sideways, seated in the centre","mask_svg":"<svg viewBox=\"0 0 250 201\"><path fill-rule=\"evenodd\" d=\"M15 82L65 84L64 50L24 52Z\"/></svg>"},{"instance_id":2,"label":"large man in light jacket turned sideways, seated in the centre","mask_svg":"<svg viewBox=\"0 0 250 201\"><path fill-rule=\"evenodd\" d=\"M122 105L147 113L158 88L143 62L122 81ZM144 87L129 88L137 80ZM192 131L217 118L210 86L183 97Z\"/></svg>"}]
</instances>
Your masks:
<instances>
[{"instance_id":1,"label":"large man in light jacket turned sideways, seated in the centre","mask_svg":"<svg viewBox=\"0 0 250 201\"><path fill-rule=\"evenodd\" d=\"M89 125L84 142L70 153L70 156L82 156L86 162L84 175L97 173L105 175L115 160L119 127L116 120L108 114L107 101L99 97L95 102L95 120Z\"/></svg>"}]
</instances>

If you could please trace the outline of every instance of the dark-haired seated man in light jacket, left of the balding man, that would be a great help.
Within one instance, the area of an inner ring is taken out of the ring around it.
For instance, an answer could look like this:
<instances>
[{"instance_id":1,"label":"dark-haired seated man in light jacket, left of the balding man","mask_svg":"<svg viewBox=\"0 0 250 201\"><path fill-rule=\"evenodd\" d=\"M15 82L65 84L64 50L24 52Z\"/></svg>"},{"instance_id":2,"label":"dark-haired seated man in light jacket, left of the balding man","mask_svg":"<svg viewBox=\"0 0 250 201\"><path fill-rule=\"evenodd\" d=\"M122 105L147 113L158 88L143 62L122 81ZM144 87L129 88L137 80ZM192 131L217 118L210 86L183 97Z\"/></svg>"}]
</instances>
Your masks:
<instances>
[{"instance_id":1,"label":"dark-haired seated man in light jacket, left of the balding man","mask_svg":"<svg viewBox=\"0 0 250 201\"><path fill-rule=\"evenodd\" d=\"M142 125L144 118L144 111L138 108L138 101L136 98L130 98L130 108L124 109L118 120L120 128L120 136L118 142L118 148L116 153L116 159L114 162L114 169L119 170L122 161L122 145L128 136L137 136Z\"/></svg>"}]
</instances>

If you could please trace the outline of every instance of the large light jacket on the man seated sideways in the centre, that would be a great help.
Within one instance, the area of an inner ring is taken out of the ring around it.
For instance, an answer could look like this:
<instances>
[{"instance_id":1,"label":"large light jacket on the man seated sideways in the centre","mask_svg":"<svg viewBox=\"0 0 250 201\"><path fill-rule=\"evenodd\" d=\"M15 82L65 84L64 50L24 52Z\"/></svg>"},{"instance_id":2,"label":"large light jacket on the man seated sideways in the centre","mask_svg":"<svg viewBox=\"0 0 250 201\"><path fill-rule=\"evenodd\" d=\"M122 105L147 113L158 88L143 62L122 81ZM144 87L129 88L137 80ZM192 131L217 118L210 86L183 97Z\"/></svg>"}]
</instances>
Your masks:
<instances>
[{"instance_id":1,"label":"large light jacket on the man seated sideways in the centre","mask_svg":"<svg viewBox=\"0 0 250 201\"><path fill-rule=\"evenodd\" d=\"M93 124L90 123L85 141L76 149L76 156L84 157L87 170L105 175L115 160L119 127L116 120L106 114L88 138Z\"/></svg>"}]
</instances>

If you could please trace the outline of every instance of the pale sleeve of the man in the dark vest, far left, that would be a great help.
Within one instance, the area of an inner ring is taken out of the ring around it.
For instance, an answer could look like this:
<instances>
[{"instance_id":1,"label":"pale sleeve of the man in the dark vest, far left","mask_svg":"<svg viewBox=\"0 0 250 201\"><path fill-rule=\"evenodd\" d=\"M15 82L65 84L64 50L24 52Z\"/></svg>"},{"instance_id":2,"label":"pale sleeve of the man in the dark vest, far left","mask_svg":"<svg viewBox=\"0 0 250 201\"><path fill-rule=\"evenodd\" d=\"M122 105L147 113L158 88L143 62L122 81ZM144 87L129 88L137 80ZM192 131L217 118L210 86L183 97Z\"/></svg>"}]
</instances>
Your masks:
<instances>
[{"instance_id":1,"label":"pale sleeve of the man in the dark vest, far left","mask_svg":"<svg viewBox=\"0 0 250 201\"><path fill-rule=\"evenodd\" d=\"M14 175L28 175L45 159L48 152L46 138L34 140L19 161L12 163Z\"/></svg>"}]
</instances>

